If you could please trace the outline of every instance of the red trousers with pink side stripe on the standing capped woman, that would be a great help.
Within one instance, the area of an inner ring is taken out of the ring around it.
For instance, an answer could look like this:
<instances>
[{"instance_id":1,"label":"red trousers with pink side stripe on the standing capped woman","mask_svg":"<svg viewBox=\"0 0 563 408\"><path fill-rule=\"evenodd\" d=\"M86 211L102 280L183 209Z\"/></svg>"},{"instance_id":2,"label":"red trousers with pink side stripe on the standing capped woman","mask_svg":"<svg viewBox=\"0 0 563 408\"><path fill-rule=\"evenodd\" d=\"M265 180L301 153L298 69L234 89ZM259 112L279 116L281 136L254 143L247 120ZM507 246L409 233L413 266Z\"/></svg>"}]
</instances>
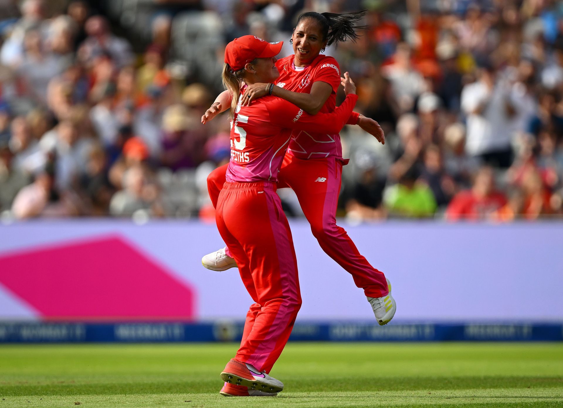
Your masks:
<instances>
[{"instance_id":1,"label":"red trousers with pink side stripe on the standing capped woman","mask_svg":"<svg viewBox=\"0 0 563 408\"><path fill-rule=\"evenodd\" d=\"M235 359L266 373L301 307L291 230L275 191L272 182L225 183L216 202L217 228L254 301Z\"/></svg>"}]
</instances>

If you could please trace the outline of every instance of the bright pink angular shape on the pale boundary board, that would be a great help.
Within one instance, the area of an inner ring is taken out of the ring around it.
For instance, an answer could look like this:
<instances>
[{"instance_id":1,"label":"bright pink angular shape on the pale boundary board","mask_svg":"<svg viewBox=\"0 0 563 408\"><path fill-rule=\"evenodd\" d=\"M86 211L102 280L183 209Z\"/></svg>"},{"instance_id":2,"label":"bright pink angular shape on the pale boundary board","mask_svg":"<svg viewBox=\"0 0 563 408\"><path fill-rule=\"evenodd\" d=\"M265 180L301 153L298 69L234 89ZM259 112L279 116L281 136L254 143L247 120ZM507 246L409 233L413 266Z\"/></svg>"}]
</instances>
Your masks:
<instances>
[{"instance_id":1,"label":"bright pink angular shape on the pale boundary board","mask_svg":"<svg viewBox=\"0 0 563 408\"><path fill-rule=\"evenodd\" d=\"M191 320L194 291L121 237L0 257L0 282L46 320Z\"/></svg>"}]
</instances>

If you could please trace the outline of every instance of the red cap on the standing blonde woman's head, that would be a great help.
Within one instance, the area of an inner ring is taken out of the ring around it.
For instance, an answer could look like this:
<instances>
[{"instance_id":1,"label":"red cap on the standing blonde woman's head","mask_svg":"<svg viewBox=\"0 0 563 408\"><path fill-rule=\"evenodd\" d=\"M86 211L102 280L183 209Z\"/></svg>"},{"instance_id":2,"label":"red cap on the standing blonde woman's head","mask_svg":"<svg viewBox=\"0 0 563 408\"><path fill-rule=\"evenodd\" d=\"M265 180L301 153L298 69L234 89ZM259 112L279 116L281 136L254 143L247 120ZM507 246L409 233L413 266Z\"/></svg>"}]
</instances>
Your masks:
<instances>
[{"instance_id":1,"label":"red cap on the standing blonde woman's head","mask_svg":"<svg viewBox=\"0 0 563 408\"><path fill-rule=\"evenodd\" d=\"M254 58L275 57L282 51L283 41L269 43L256 35L235 38L225 47L225 62L233 71L244 68Z\"/></svg>"}]
</instances>

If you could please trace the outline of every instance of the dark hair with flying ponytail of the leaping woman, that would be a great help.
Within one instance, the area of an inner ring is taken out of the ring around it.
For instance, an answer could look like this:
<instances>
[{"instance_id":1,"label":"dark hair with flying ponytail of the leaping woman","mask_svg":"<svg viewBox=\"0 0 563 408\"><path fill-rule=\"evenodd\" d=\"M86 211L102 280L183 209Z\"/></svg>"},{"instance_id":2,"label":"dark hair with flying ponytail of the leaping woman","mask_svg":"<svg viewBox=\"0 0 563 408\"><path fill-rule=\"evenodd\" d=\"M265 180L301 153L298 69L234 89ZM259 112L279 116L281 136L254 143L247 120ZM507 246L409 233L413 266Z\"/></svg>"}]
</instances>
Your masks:
<instances>
[{"instance_id":1,"label":"dark hair with flying ponytail of the leaping woman","mask_svg":"<svg viewBox=\"0 0 563 408\"><path fill-rule=\"evenodd\" d=\"M302 13L297 19L297 24L302 20L313 19L319 23L324 39L327 41L327 46L334 44L338 46L338 42L346 41L348 39L356 41L359 30L365 30L365 25L354 25L355 22L360 21L365 16L367 10L355 11L352 13L315 13L309 11ZM296 25L297 25L296 24Z\"/></svg>"}]
</instances>

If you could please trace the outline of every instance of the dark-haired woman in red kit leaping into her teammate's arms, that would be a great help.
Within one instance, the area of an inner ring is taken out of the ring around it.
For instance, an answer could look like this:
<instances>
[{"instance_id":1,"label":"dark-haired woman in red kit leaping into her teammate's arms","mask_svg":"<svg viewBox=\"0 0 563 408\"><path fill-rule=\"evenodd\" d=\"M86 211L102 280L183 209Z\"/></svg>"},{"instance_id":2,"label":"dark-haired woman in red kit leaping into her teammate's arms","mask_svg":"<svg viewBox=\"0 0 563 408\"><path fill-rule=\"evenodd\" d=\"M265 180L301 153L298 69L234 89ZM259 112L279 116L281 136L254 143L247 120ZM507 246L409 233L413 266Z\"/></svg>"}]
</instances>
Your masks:
<instances>
[{"instance_id":1,"label":"dark-haired woman in red kit leaping into her teammate's arms","mask_svg":"<svg viewBox=\"0 0 563 408\"><path fill-rule=\"evenodd\" d=\"M303 13L293 31L294 55L276 62L280 71L271 94L294 103L309 114L333 112L336 106L336 91L340 85L338 62L320 54L326 46L337 44L347 38L358 37L354 25L364 12ZM255 83L243 94L242 106L259 101L270 93L269 84ZM226 90L202 117L205 123L218 112L224 111L231 100ZM358 124L385 143L383 131L376 121L356 114L348 124ZM387 324L395 315L396 303L389 293L390 284L385 275L360 254L346 230L336 225L336 209L342 181L342 166L347 163L342 157L342 145L338 133L294 130L280 173L278 188L291 187L296 193L311 231L321 248L354 278L357 287L364 289L374 315L380 325ZM225 182L226 166L214 170L208 177L209 196L213 205ZM209 253L202 264L211 270L234 268L236 262L230 256L229 247Z\"/></svg>"}]
</instances>

